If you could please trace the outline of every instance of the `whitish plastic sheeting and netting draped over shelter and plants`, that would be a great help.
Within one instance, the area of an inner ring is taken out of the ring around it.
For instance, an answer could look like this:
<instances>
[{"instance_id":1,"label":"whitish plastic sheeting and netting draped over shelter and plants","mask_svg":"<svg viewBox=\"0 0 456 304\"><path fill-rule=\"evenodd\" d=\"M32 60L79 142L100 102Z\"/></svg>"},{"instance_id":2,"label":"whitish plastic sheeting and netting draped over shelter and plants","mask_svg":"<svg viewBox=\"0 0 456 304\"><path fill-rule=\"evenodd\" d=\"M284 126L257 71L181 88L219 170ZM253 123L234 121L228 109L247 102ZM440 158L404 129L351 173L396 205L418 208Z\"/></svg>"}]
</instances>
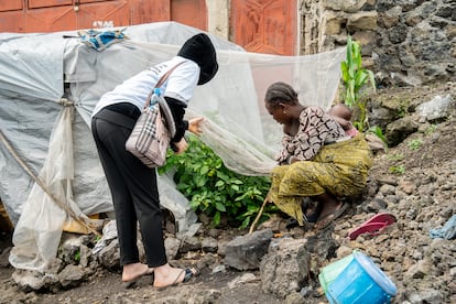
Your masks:
<instances>
[{"instance_id":1,"label":"whitish plastic sheeting and netting draped over shelter and plants","mask_svg":"<svg viewBox=\"0 0 456 304\"><path fill-rule=\"evenodd\" d=\"M102 94L172 58L198 32L175 22L133 25L123 31L128 39L101 52L83 44L77 32L0 34L2 134L14 153L80 218L112 211L89 129L91 111ZM219 72L197 87L187 118L207 118L202 140L227 167L245 175L268 175L275 165L282 127L264 110L265 89L274 82L286 82L300 91L302 104L327 109L337 91L345 50L284 57L247 53L209 36ZM73 107L65 107L65 99ZM72 117L68 108L76 110ZM159 176L159 186L162 206L173 213L178 235L194 234L198 224L188 202L167 176ZM40 189L3 143L0 197L15 225L11 264L45 270L57 250L67 214Z\"/></svg>"}]
</instances>

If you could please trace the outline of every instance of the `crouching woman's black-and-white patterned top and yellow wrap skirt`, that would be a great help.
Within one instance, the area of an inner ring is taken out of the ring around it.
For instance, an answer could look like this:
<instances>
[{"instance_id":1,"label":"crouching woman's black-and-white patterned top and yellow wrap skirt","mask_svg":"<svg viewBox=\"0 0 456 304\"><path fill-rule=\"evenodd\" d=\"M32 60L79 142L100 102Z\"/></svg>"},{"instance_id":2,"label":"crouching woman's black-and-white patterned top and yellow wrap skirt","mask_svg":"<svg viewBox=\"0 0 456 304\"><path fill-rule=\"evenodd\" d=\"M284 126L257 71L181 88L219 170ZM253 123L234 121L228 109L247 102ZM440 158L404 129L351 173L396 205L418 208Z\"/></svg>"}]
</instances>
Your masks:
<instances>
[{"instance_id":1,"label":"crouching woman's black-and-white patterned top and yellow wrap skirt","mask_svg":"<svg viewBox=\"0 0 456 304\"><path fill-rule=\"evenodd\" d=\"M336 197L354 196L366 187L372 155L363 134L345 135L344 129L323 109L305 108L298 131L284 135L276 161L282 164L271 174L268 197L282 211L303 225L303 197L329 193ZM298 162L287 164L294 156Z\"/></svg>"}]
</instances>

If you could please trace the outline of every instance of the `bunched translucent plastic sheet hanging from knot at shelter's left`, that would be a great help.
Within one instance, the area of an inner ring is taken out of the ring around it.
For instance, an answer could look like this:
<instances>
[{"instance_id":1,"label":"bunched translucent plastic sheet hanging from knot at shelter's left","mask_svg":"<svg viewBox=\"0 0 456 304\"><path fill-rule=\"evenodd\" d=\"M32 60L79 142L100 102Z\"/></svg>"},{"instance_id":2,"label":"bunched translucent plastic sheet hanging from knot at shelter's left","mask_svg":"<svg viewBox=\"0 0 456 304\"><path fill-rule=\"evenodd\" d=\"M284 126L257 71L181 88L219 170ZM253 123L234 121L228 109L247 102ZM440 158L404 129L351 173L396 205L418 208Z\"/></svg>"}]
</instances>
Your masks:
<instances>
[{"instance_id":1,"label":"bunched translucent plastic sheet hanging from knot at shelter's left","mask_svg":"<svg viewBox=\"0 0 456 304\"><path fill-rule=\"evenodd\" d=\"M14 228L14 247L9 261L15 268L44 271L57 253L62 226L67 214L45 194L45 191L52 193L59 202L69 202L68 197L73 196L72 189L66 187L67 181L74 177L73 112L73 107L64 107L57 117L48 153L37 176L46 185L46 189L39 184L33 185Z\"/></svg>"}]
</instances>

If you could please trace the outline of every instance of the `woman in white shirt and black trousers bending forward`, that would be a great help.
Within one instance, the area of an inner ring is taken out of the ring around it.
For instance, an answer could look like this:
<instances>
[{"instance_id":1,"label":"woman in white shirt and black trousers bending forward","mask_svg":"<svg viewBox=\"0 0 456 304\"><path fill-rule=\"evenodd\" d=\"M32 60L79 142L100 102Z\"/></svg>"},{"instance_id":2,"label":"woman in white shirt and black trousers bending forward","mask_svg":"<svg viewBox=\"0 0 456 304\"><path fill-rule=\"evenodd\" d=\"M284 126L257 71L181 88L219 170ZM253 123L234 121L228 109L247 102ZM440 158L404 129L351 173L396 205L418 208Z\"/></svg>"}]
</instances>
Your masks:
<instances>
[{"instance_id":1,"label":"woman in white shirt and black trousers bending forward","mask_svg":"<svg viewBox=\"0 0 456 304\"><path fill-rule=\"evenodd\" d=\"M122 281L127 285L152 271L156 287L187 282L196 274L195 269L178 269L167 263L155 169L149 169L126 150L126 141L149 93L172 68L162 91L176 124L171 145L175 153L183 153L187 149L185 131L199 134L199 123L204 119L184 120L185 108L196 86L213 79L218 70L216 51L204 33L188 39L172 59L139 73L106 93L93 112L91 131L112 196ZM146 264L139 260L138 222Z\"/></svg>"}]
</instances>

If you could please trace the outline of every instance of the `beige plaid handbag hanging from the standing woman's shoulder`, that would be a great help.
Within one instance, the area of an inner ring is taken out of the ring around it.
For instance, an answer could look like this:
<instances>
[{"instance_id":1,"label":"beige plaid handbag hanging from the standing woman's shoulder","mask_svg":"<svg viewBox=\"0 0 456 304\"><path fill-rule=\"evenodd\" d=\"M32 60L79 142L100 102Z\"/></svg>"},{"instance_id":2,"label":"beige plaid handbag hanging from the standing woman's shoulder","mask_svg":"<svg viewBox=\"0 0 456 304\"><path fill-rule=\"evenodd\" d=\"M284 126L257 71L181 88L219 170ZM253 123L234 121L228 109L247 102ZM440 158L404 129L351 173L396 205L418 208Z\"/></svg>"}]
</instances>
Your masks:
<instances>
[{"instance_id":1,"label":"beige plaid handbag hanging from the standing woman's shoulder","mask_svg":"<svg viewBox=\"0 0 456 304\"><path fill-rule=\"evenodd\" d=\"M148 167L158 167L164 164L167 146L176 131L166 100L162 96L158 96L158 100L151 105L151 98L155 89L162 86L178 65L166 72L151 90L144 109L126 142L126 149Z\"/></svg>"}]
</instances>

